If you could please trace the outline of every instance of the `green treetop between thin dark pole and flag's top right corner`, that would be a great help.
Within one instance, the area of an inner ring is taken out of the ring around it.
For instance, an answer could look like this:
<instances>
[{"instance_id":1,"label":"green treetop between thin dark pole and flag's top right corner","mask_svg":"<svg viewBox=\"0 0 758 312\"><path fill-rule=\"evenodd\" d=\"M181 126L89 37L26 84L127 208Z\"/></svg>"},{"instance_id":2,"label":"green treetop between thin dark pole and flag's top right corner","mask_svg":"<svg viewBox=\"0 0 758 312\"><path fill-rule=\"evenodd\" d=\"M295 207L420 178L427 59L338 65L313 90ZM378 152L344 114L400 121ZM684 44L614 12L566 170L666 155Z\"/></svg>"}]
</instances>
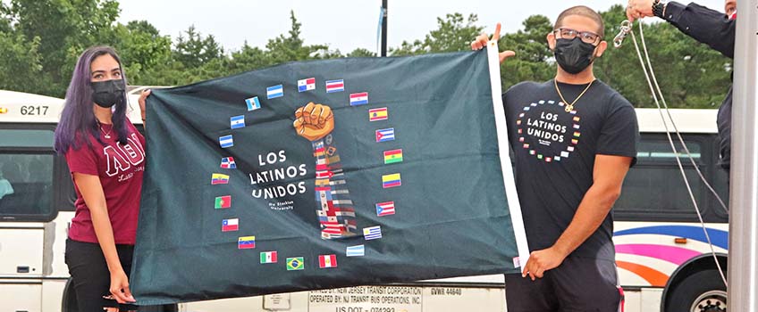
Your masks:
<instances>
[{"instance_id":1,"label":"green treetop between thin dark pole and flag's top right corner","mask_svg":"<svg viewBox=\"0 0 758 312\"><path fill-rule=\"evenodd\" d=\"M467 19L460 13L447 14L445 19L437 18L437 29L430 31L424 40L403 41L400 47L390 49L390 53L397 56L466 51L471 40L482 32L483 28L476 26L476 21L476 14L469 14Z\"/></svg>"}]
</instances>

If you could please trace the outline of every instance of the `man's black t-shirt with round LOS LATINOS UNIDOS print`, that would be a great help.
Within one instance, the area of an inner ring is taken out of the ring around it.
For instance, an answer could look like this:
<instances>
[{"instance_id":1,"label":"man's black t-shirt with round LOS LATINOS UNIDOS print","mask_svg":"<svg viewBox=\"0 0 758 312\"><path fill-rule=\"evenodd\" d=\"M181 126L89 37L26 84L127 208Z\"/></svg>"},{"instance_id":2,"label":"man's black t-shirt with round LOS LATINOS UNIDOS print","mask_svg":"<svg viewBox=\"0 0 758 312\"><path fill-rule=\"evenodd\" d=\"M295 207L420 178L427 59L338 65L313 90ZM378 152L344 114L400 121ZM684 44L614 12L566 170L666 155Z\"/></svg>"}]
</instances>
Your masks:
<instances>
[{"instance_id":1,"label":"man's black t-shirt with round LOS LATINOS UNIDOS print","mask_svg":"<svg viewBox=\"0 0 758 312\"><path fill-rule=\"evenodd\" d=\"M593 185L595 155L636 157L639 132L634 107L595 80L567 112L553 80L524 82L503 94L516 187L531 250L555 243ZM559 83L573 102L585 85ZM611 214L571 255L613 260Z\"/></svg>"}]
</instances>

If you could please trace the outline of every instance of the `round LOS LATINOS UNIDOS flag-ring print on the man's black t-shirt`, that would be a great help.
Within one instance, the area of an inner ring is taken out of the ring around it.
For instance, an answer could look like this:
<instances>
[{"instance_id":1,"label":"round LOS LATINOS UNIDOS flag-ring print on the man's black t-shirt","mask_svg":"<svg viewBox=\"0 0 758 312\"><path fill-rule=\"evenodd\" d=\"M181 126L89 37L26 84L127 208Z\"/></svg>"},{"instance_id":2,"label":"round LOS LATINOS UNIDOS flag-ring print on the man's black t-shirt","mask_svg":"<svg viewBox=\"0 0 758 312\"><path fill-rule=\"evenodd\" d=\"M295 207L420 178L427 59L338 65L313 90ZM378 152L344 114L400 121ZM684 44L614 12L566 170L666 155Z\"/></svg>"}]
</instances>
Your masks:
<instances>
[{"instance_id":1,"label":"round LOS LATINOS UNIDOS flag-ring print on the man's black t-shirt","mask_svg":"<svg viewBox=\"0 0 758 312\"><path fill-rule=\"evenodd\" d=\"M574 152L581 133L577 111L566 112L566 104L540 100L526 104L516 119L518 144L544 162L569 158Z\"/></svg>"}]
</instances>

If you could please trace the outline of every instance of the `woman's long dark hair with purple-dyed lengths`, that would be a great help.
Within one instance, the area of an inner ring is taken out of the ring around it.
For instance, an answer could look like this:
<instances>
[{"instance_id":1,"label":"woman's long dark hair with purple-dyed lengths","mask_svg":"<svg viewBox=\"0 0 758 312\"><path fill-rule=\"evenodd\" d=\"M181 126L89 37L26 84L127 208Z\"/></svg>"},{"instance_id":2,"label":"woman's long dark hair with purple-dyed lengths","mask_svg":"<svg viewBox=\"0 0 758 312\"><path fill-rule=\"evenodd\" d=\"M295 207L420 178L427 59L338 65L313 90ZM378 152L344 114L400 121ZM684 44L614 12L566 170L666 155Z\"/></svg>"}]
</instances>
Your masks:
<instances>
[{"instance_id":1,"label":"woman's long dark hair with purple-dyed lengths","mask_svg":"<svg viewBox=\"0 0 758 312\"><path fill-rule=\"evenodd\" d=\"M122 79L126 86L126 77L124 76L121 59L115 52L114 48L105 45L89 47L84 53L81 53L79 61L73 70L72 81L66 91L65 105L61 120L58 127L55 128L55 152L65 154L70 148L78 150L81 142L86 142L88 146L92 143L87 139L88 135L93 135L97 142L104 144L100 139L100 130L95 119L95 112L92 110L95 103L92 102L92 83L91 83L91 65L97 57L110 54L118 62L119 69L122 70ZM124 91L122 101L115 104L113 123L114 132L118 135L118 142L126 144L127 127L126 127L126 92ZM105 145L105 144L104 144Z\"/></svg>"}]
</instances>

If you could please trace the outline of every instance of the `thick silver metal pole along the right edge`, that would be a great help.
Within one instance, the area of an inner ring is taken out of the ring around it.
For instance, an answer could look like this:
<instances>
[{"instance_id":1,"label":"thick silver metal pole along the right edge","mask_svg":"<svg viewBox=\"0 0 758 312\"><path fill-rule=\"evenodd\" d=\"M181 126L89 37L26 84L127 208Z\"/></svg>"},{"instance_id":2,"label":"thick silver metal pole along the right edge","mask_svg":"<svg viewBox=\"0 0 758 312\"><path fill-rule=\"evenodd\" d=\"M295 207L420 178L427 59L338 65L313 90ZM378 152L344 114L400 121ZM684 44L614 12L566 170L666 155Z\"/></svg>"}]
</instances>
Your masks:
<instances>
[{"instance_id":1,"label":"thick silver metal pole along the right edge","mask_svg":"<svg viewBox=\"0 0 758 312\"><path fill-rule=\"evenodd\" d=\"M758 0L737 1L728 311L758 311Z\"/></svg>"}]
</instances>

